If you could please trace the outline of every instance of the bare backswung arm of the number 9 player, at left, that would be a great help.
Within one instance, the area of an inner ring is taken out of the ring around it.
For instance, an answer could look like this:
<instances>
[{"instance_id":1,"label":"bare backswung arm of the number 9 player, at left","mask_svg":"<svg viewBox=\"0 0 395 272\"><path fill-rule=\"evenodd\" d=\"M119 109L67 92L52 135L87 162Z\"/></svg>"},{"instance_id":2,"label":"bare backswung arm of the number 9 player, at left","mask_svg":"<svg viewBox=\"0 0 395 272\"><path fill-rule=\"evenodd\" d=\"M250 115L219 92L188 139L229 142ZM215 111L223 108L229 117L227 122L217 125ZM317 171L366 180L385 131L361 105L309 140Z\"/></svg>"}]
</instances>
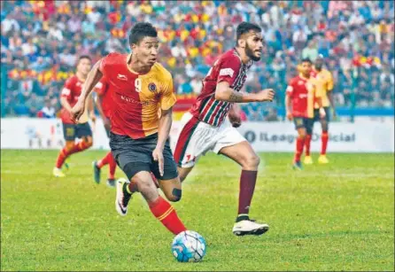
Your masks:
<instances>
[{"instance_id":1,"label":"bare backswung arm of the number 9 player, at left","mask_svg":"<svg viewBox=\"0 0 395 272\"><path fill-rule=\"evenodd\" d=\"M72 119L76 122L80 119L81 115L83 114L85 110L85 102L87 100L87 97L89 97L89 94L92 92L93 88L96 86L97 82L100 81L102 78L103 74L102 71L100 70L101 63L103 61L103 58L93 66L92 70L90 70L87 80L85 81L85 84L83 85L81 95L78 98L78 102L74 105L72 109Z\"/></svg>"}]
</instances>

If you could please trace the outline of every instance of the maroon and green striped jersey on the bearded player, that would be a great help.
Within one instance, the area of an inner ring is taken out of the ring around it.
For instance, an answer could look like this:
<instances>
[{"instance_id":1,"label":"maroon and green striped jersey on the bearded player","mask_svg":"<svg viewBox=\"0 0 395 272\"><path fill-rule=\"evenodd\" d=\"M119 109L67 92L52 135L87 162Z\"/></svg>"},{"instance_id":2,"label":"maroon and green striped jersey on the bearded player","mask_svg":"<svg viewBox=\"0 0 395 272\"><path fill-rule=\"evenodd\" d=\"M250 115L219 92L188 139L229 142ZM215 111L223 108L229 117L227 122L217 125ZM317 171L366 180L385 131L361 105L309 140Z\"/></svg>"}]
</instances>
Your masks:
<instances>
[{"instance_id":1,"label":"maroon and green striped jersey on the bearded player","mask_svg":"<svg viewBox=\"0 0 395 272\"><path fill-rule=\"evenodd\" d=\"M228 115L232 103L215 99L215 88L219 82L228 82L230 88L239 91L242 89L247 70L252 61L244 64L237 53L232 49L223 53L203 80L203 87L197 101L192 105L190 113L198 120L218 127Z\"/></svg>"}]
</instances>

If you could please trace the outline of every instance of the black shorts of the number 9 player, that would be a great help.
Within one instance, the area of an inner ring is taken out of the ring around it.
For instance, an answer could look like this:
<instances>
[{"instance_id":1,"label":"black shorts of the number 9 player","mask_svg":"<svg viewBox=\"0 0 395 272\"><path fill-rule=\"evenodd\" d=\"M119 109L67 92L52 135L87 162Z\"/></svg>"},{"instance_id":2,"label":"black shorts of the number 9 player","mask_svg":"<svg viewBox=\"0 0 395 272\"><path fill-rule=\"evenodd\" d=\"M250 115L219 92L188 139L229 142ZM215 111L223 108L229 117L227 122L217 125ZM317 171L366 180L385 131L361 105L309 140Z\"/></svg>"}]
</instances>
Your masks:
<instances>
[{"instance_id":1,"label":"black shorts of the number 9 player","mask_svg":"<svg viewBox=\"0 0 395 272\"><path fill-rule=\"evenodd\" d=\"M111 133L110 147L118 166L128 176L129 181L138 172L152 172L159 180L171 180L178 176L173 153L167 140L163 150L164 174L159 174L158 161L152 158L152 152L158 143L158 134L146 136L140 139L132 139L129 136L120 136Z\"/></svg>"}]
</instances>

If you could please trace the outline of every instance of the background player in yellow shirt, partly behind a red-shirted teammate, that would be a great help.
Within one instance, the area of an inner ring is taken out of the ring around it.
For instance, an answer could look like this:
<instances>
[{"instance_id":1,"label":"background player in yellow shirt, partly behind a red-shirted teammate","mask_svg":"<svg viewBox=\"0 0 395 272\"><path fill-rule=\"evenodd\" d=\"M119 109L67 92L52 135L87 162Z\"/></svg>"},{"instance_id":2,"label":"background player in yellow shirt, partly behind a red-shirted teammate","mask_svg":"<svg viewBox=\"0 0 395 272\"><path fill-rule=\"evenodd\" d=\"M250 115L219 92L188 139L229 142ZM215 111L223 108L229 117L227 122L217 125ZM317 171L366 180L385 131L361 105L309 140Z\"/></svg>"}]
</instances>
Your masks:
<instances>
[{"instance_id":1,"label":"background player in yellow shirt, partly behind a red-shirted teammate","mask_svg":"<svg viewBox=\"0 0 395 272\"><path fill-rule=\"evenodd\" d=\"M317 90L322 94L322 106L325 110L325 118L320 118L319 113L319 105L317 103L314 104L314 121L319 120L321 122L322 134L321 134L321 154L318 157L318 163L329 163L327 159L327 146L328 146L328 125L329 125L329 107L332 106L333 118L336 119L336 111L335 111L335 101L333 99L332 89L333 89L333 78L332 74L326 69L322 68L323 66L323 57L320 55L314 63L314 69L312 72L312 76L315 78L315 82L317 85ZM313 133L313 129L311 131ZM306 156L305 156L305 164L312 164L313 159L310 156L310 143L312 141L312 134L306 135Z\"/></svg>"}]
</instances>

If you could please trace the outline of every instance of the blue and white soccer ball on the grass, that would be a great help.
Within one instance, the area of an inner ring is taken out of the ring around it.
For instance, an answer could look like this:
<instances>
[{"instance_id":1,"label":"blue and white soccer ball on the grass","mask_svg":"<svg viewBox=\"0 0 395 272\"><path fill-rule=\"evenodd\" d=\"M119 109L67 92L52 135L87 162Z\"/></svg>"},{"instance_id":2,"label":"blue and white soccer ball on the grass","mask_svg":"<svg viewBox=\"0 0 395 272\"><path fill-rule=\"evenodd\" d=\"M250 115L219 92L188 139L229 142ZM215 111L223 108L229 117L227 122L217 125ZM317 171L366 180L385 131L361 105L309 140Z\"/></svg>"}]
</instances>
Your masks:
<instances>
[{"instance_id":1,"label":"blue and white soccer ball on the grass","mask_svg":"<svg viewBox=\"0 0 395 272\"><path fill-rule=\"evenodd\" d=\"M172 253L181 262L200 261L205 256L205 238L196 231L182 231L174 237Z\"/></svg>"}]
</instances>

